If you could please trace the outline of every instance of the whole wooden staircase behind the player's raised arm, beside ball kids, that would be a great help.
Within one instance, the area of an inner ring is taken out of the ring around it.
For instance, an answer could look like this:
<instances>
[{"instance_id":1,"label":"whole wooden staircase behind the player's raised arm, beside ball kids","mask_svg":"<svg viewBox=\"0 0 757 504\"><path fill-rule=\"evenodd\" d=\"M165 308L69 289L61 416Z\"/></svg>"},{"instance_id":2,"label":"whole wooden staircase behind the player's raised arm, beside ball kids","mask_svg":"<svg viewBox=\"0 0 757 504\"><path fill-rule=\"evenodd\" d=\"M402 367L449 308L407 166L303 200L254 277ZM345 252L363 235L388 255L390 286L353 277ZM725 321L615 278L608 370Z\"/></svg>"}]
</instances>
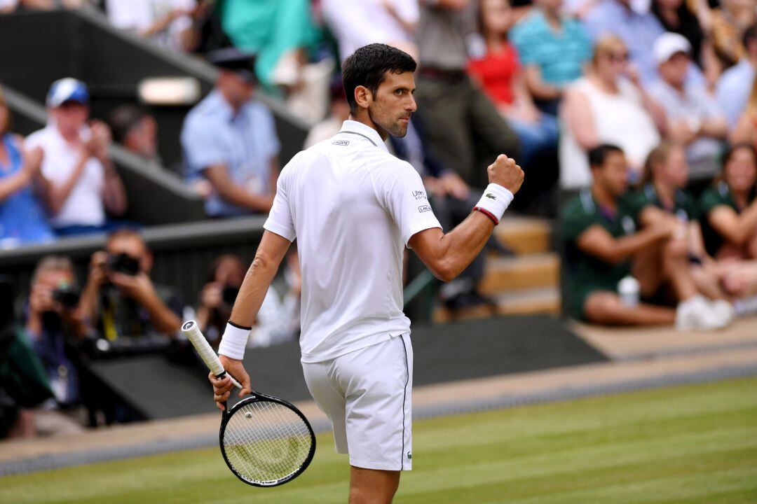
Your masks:
<instances>
[{"instance_id":1,"label":"whole wooden staircase behind the player's raised arm, beside ball kids","mask_svg":"<svg viewBox=\"0 0 757 504\"><path fill-rule=\"evenodd\" d=\"M481 293L497 301L496 314L559 314L559 255L551 249L552 227L541 218L508 217L494 230L497 240L515 255L490 253ZM434 322L491 317L489 307L468 308L451 313L438 305Z\"/></svg>"}]
</instances>

